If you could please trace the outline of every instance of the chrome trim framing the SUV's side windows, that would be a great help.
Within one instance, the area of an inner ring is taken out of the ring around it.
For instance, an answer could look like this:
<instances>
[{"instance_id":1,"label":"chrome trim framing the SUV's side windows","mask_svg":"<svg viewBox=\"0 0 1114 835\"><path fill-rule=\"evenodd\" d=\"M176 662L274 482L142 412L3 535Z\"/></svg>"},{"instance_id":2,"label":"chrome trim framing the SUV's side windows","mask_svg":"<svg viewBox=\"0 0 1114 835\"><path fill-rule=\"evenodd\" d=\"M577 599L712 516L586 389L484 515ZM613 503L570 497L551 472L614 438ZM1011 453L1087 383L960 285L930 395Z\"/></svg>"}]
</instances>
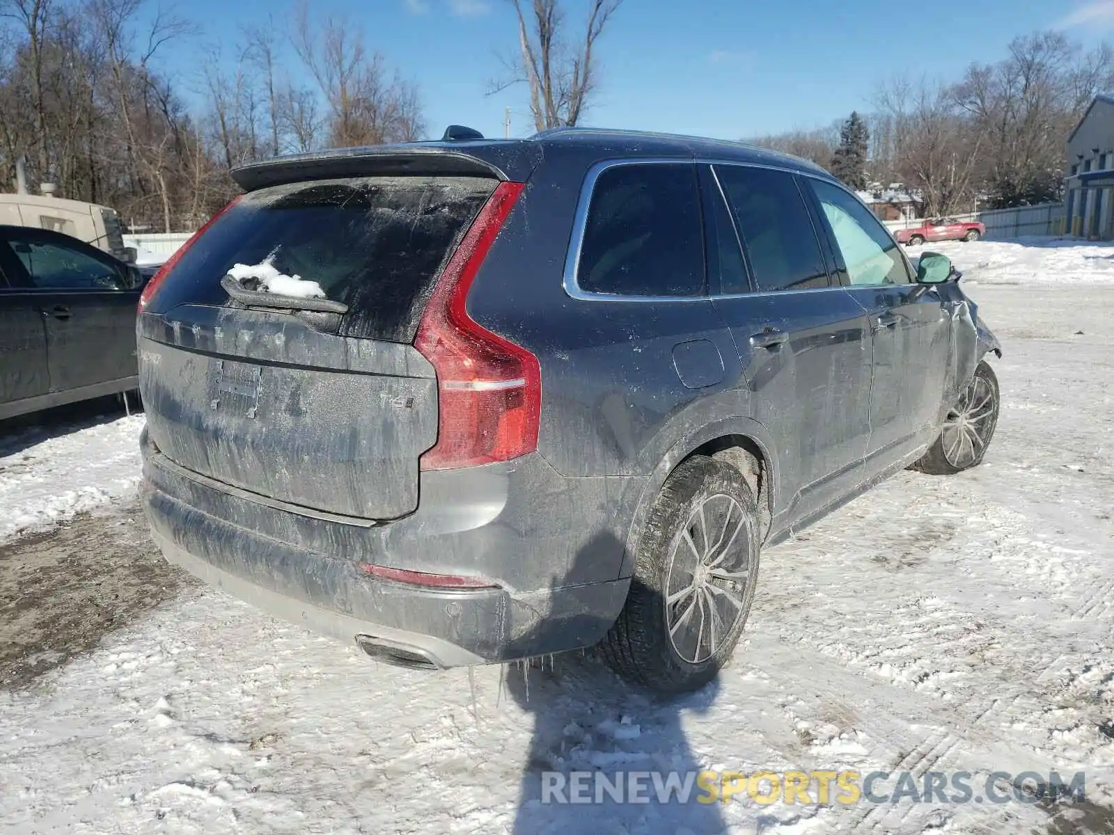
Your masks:
<instances>
[{"instance_id":1,"label":"chrome trim framing the SUV's side windows","mask_svg":"<svg viewBox=\"0 0 1114 835\"><path fill-rule=\"evenodd\" d=\"M573 235L569 240L568 252L565 255L565 274L564 274L564 285L565 293L570 297L579 302L707 302L714 299L723 298L749 298L752 296L783 296L786 294L798 294L798 293L829 293L831 291L846 291L847 286L841 284L832 284L827 287L804 287L801 289L765 289L755 291L751 293L720 293L720 294L709 294L702 296L625 296L616 293L594 293L580 289L580 285L577 283L577 272L580 265L580 249L584 245L584 233L588 225L588 208L592 205L592 195L596 188L596 180L599 176L610 169L617 168L618 166L626 165L706 165L706 166L736 166L740 168L766 168L773 171L783 171L789 175L795 175L801 177L812 177L813 179L821 180L823 183L833 183L839 185L837 180L821 176L819 173L800 170L798 168L786 168L779 165L769 165L765 163L742 163L733 159L717 159L715 157L645 157L645 158L629 158L629 159L605 159L603 161L596 163L588 169L587 176L584 178L584 184L580 186L580 196L577 198L576 214L573 216ZM713 168L713 175L715 170ZM719 178L716 178L716 184L719 184ZM842 187L842 186L841 186ZM847 189L844 189L847 190ZM852 194L852 196L854 196ZM856 196L856 199L859 199ZM811 219L811 214L810 214ZM732 218L734 223L734 218ZM885 225L883 225L885 228ZM888 232L888 229L887 229ZM879 285L881 286L881 285Z\"/></svg>"}]
</instances>

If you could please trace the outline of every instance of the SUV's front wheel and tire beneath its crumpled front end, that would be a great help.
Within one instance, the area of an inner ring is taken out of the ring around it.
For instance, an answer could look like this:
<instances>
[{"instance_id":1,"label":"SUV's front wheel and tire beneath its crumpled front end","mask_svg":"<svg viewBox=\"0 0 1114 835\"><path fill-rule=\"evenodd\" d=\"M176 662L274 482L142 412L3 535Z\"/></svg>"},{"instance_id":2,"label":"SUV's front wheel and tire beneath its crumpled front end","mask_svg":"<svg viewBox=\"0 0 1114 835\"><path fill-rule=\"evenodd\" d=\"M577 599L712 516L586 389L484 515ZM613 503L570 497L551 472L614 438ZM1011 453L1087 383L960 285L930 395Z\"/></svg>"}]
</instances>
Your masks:
<instances>
[{"instance_id":1,"label":"SUV's front wheel and tire beneath its crumpled front end","mask_svg":"<svg viewBox=\"0 0 1114 835\"><path fill-rule=\"evenodd\" d=\"M939 436L910 469L929 475L955 475L978 466L994 438L1000 406L998 377L994 369L983 361L975 369L970 384L959 395L959 402L948 412Z\"/></svg>"}]
</instances>

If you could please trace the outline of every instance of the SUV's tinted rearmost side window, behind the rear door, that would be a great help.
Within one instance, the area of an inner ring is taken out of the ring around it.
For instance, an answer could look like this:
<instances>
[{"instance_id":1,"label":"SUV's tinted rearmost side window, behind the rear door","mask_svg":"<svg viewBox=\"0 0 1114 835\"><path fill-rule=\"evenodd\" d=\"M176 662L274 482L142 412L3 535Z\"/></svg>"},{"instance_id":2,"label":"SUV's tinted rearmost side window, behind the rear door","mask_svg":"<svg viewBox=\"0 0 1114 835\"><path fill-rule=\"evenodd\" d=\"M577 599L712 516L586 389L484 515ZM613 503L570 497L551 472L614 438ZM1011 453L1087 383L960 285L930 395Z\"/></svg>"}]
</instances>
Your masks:
<instances>
[{"instance_id":1,"label":"SUV's tinted rearmost side window, behind the rear door","mask_svg":"<svg viewBox=\"0 0 1114 835\"><path fill-rule=\"evenodd\" d=\"M619 165L596 180L577 284L588 293L698 296L704 232L693 165Z\"/></svg>"}]
</instances>

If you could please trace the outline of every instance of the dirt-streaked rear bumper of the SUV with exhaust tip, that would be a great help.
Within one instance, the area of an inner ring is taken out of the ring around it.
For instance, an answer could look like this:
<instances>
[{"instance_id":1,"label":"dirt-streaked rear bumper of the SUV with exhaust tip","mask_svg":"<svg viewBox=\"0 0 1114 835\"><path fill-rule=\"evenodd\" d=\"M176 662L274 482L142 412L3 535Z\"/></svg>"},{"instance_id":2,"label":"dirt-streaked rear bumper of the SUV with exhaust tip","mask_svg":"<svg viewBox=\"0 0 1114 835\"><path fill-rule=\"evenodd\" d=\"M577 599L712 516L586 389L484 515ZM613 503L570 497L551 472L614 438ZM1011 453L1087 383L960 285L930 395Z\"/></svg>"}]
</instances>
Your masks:
<instances>
[{"instance_id":1,"label":"dirt-streaked rear bumper of the SUV with exhaust tip","mask_svg":"<svg viewBox=\"0 0 1114 835\"><path fill-rule=\"evenodd\" d=\"M360 563L397 564L377 544L389 544L387 529L412 524L412 517L372 528L300 517L184 478L160 465L162 456L152 452L145 444L141 492L153 537L167 560L281 618L344 641L355 640L387 661L443 668L592 646L610 628L626 599L628 579L550 582L530 591L506 584L431 589L375 579ZM514 479L514 472L507 477ZM492 543L507 549L516 540L529 541L528 534L508 538L506 531L485 531L499 519L496 514L488 525L456 534L458 539L466 536L478 549L472 571L457 568L460 542L456 556L446 554L441 567L434 553L408 568L499 578L499 568L508 561L537 559L525 546L498 553L480 550ZM306 525L314 531L313 541L324 537L335 544L332 552L306 547L307 534L300 532ZM567 527L574 527L571 520ZM276 537L278 531L289 536ZM570 536L583 534L577 525ZM592 538L595 548L582 549L584 558L589 562L605 556L620 560L620 551L608 552L610 539L606 533ZM444 543L431 536L427 544L437 549ZM554 580L590 573L563 557L549 554L546 570Z\"/></svg>"}]
</instances>

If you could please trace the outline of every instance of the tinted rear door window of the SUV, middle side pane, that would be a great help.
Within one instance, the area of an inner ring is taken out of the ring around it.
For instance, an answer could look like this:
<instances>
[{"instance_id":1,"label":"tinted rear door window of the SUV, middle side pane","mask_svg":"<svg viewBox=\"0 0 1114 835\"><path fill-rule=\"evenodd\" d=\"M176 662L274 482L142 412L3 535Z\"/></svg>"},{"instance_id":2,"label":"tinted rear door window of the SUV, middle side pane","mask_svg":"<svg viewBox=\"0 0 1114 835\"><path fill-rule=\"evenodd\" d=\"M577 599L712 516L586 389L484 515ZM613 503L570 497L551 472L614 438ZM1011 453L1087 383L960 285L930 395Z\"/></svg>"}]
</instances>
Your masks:
<instances>
[{"instance_id":1,"label":"tinted rear door window of the SUV, middle side pane","mask_svg":"<svg viewBox=\"0 0 1114 835\"><path fill-rule=\"evenodd\" d=\"M716 166L760 291L828 286L812 219L784 171Z\"/></svg>"}]
</instances>

